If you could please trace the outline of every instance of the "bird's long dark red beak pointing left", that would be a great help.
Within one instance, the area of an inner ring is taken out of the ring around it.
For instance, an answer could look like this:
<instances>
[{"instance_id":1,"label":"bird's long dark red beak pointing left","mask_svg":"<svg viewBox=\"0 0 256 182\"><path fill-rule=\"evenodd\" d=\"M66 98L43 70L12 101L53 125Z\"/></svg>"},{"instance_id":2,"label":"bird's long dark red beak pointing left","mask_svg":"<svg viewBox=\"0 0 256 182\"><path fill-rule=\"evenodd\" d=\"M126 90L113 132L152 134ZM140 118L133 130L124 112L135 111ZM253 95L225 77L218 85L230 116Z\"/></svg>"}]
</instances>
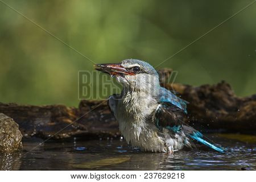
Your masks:
<instances>
[{"instance_id":1,"label":"bird's long dark red beak pointing left","mask_svg":"<svg viewBox=\"0 0 256 182\"><path fill-rule=\"evenodd\" d=\"M109 75L135 75L134 72L122 67L121 64L95 64L94 69L104 73L109 73Z\"/></svg>"}]
</instances>

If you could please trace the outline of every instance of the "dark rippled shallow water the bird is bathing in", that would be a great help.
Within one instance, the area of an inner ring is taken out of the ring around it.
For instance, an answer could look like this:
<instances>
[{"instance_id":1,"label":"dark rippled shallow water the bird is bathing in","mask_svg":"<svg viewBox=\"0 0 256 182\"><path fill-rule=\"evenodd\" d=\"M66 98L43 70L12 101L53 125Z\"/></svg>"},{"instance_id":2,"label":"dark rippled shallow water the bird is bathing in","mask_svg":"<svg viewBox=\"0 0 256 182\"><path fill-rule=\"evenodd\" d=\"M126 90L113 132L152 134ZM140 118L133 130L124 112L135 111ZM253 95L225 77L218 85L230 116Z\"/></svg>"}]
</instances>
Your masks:
<instances>
[{"instance_id":1,"label":"dark rippled shallow water the bird is bathing in","mask_svg":"<svg viewBox=\"0 0 256 182\"><path fill-rule=\"evenodd\" d=\"M208 135L229 150L178 151L173 155L141 152L123 140L78 139L40 146L40 139L24 139L23 151L0 154L0 169L14 170L254 170L255 136ZM249 138L249 139L248 139ZM246 139L246 140L245 140ZM38 147L36 147L38 146ZM36 147L36 148L35 148ZM34 148L34 149L33 149ZM33 149L33 150L32 150ZM31 151L32 150L32 151ZM28 152L30 151L30 152Z\"/></svg>"}]
</instances>

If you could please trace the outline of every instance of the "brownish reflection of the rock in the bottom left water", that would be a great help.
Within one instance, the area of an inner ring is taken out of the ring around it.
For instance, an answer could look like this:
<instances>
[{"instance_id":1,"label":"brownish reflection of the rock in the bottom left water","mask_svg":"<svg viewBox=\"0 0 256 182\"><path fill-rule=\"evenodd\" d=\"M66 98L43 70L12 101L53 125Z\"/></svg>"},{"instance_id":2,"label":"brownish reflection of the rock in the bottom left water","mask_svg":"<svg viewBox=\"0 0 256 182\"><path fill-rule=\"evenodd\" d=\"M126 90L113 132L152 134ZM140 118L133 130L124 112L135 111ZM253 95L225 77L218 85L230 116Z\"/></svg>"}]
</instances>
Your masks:
<instances>
[{"instance_id":1,"label":"brownish reflection of the rock in the bottom left water","mask_svg":"<svg viewBox=\"0 0 256 182\"><path fill-rule=\"evenodd\" d=\"M21 152L13 152L11 154L0 153L0 170L19 170L20 158Z\"/></svg>"}]
</instances>

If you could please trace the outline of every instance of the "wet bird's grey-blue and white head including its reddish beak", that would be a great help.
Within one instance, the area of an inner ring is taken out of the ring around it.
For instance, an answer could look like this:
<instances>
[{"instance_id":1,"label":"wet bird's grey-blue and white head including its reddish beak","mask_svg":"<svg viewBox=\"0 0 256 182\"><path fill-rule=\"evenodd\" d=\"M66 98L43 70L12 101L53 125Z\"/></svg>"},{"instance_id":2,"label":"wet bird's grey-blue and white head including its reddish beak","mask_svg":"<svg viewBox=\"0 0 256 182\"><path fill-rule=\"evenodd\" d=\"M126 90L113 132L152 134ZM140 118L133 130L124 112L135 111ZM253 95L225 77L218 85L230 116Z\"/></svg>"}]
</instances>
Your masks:
<instances>
[{"instance_id":1,"label":"wet bird's grey-blue and white head including its reddish beak","mask_svg":"<svg viewBox=\"0 0 256 182\"><path fill-rule=\"evenodd\" d=\"M124 87L134 91L151 92L159 86L158 73L150 64L141 60L126 59L118 64L96 64L94 69L109 73Z\"/></svg>"}]
</instances>

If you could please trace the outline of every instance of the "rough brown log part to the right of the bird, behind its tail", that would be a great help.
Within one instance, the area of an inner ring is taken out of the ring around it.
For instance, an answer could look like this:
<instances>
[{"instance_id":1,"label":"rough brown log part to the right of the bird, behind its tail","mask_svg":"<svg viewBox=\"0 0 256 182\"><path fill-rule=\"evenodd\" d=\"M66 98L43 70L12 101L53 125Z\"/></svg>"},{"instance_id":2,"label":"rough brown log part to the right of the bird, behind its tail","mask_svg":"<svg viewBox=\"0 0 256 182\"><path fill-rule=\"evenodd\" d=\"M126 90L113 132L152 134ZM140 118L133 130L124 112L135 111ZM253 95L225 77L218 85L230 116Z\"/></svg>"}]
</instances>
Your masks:
<instances>
[{"instance_id":1,"label":"rough brown log part to the right of the bird, behind its tail","mask_svg":"<svg viewBox=\"0 0 256 182\"><path fill-rule=\"evenodd\" d=\"M225 81L198 87L180 84L166 87L179 90L181 97L189 102L187 122L204 129L255 134L256 94L237 97Z\"/></svg>"}]
</instances>

